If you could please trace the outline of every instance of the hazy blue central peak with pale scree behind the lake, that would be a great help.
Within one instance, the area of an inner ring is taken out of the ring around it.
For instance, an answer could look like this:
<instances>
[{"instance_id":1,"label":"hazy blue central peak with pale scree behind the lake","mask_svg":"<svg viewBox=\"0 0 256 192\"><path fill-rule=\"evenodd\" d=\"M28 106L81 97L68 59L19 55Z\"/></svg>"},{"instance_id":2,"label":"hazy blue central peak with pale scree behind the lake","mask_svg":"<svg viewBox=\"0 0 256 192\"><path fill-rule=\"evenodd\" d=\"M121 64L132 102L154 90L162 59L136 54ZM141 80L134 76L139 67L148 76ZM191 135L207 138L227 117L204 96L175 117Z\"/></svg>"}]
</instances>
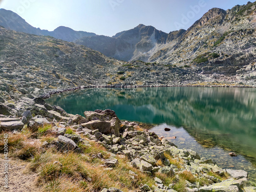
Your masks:
<instances>
[{"instance_id":1,"label":"hazy blue central peak with pale scree behind the lake","mask_svg":"<svg viewBox=\"0 0 256 192\"><path fill-rule=\"evenodd\" d=\"M167 33L152 26L140 24L134 29L122 31L113 37L103 35L83 37L75 42L116 59L146 61L161 45L165 44L167 36Z\"/></svg>"}]
</instances>

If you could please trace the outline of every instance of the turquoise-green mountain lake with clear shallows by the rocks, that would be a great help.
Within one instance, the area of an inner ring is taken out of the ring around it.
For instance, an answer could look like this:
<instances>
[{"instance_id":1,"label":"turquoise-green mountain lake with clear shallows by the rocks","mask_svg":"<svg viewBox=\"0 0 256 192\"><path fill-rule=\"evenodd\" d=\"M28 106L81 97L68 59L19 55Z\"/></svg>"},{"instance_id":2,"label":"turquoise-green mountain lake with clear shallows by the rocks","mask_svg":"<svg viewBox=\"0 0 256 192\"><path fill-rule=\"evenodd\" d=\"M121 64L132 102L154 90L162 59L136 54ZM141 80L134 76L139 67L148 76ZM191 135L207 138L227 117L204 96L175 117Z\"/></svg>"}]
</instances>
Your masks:
<instances>
[{"instance_id":1,"label":"turquoise-green mountain lake with clear shallows by the rocks","mask_svg":"<svg viewBox=\"0 0 256 192\"><path fill-rule=\"evenodd\" d=\"M223 168L245 169L256 178L256 89L162 87L86 89L47 102L68 113L112 109L119 119L154 123L152 131L212 158ZM164 132L170 127L170 132ZM237 157L230 157L234 152Z\"/></svg>"}]
</instances>

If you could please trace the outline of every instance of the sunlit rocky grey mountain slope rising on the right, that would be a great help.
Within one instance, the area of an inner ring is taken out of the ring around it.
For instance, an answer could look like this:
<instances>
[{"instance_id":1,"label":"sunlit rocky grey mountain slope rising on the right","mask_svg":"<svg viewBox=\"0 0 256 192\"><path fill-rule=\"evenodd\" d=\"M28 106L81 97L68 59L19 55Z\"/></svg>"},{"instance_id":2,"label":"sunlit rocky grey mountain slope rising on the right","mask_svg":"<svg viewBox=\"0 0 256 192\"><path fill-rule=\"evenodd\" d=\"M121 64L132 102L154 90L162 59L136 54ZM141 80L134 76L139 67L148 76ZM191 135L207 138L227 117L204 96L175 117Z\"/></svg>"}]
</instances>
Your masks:
<instances>
[{"instance_id":1,"label":"sunlit rocky grey mountain slope rising on the right","mask_svg":"<svg viewBox=\"0 0 256 192\"><path fill-rule=\"evenodd\" d=\"M256 3L249 2L227 11L211 9L178 40L168 42L150 60L197 67L203 74L256 79L255 8Z\"/></svg>"}]
</instances>

